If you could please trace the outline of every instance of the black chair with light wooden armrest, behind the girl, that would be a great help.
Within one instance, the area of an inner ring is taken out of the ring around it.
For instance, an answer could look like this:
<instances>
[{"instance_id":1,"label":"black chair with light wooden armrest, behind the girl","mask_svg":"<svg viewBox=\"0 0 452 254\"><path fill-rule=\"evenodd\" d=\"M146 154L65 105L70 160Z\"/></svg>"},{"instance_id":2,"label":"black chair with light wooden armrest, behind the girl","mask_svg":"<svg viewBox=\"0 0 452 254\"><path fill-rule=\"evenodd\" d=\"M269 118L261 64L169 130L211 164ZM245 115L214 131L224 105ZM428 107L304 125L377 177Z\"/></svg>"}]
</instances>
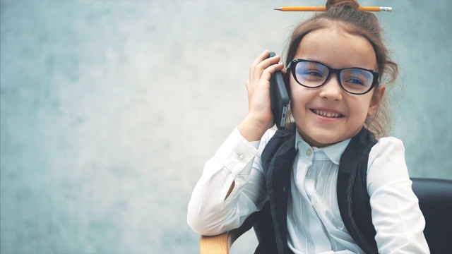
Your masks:
<instances>
[{"instance_id":1,"label":"black chair with light wooden armrest, behind the girl","mask_svg":"<svg viewBox=\"0 0 452 254\"><path fill-rule=\"evenodd\" d=\"M412 190L419 199L419 206L424 214L424 236L430 252L447 253L452 250L452 180L424 178L411 180ZM218 236L201 236L199 253L229 253L232 243L252 226L259 236L261 229L254 225L257 216L258 212L251 214L238 229Z\"/></svg>"}]
</instances>

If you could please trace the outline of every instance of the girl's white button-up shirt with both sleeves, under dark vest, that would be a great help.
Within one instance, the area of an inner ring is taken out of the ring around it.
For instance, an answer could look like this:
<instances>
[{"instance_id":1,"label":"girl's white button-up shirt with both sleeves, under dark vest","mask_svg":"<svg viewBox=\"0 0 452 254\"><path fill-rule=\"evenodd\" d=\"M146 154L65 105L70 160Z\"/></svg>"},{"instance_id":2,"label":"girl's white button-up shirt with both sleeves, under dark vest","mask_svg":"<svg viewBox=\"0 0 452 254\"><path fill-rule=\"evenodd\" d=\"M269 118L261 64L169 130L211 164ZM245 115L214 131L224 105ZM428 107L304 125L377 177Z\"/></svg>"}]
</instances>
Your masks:
<instances>
[{"instance_id":1,"label":"girl's white button-up shirt with both sleeves, under dark vest","mask_svg":"<svg viewBox=\"0 0 452 254\"><path fill-rule=\"evenodd\" d=\"M215 235L239 227L268 200L261 153L275 131L247 142L234 129L206 162L189 202L187 221L194 231ZM294 253L364 253L343 224L336 183L339 160L350 140L310 147L297 133L287 204L287 244ZM232 182L232 193L226 198ZM372 147L367 169L372 223L380 253L429 253L424 217L411 189L403 143L381 138Z\"/></svg>"}]
</instances>

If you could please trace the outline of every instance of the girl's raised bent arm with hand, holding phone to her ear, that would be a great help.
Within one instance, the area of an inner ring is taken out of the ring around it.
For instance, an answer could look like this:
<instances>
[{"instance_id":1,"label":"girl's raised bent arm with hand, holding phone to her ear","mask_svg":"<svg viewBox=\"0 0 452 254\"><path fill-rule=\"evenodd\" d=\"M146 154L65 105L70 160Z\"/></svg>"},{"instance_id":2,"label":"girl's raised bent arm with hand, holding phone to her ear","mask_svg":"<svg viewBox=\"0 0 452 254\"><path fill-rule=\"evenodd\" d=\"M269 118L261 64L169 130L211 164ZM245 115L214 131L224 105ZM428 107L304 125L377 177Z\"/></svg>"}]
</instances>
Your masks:
<instances>
[{"instance_id":1,"label":"girl's raised bent arm with hand, holding phone to her ear","mask_svg":"<svg viewBox=\"0 0 452 254\"><path fill-rule=\"evenodd\" d=\"M199 234L215 235L239 227L266 200L258 140L274 124L270 76L285 72L283 63L278 63L280 56L268 58L269 53L262 52L249 69L246 118L208 160L191 196L187 220ZM263 140L260 152L265 144Z\"/></svg>"}]
</instances>

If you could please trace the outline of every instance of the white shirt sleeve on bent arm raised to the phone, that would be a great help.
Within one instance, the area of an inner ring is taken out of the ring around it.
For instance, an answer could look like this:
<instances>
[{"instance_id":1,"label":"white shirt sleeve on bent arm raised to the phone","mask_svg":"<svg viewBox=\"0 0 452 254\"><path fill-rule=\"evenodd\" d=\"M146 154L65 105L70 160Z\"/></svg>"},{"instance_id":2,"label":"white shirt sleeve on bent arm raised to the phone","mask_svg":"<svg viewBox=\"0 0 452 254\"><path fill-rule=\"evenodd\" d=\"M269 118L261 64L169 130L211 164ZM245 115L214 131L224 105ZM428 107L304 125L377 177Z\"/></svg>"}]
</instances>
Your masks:
<instances>
[{"instance_id":1,"label":"white shirt sleeve on bent arm raised to the phone","mask_svg":"<svg viewBox=\"0 0 452 254\"><path fill-rule=\"evenodd\" d=\"M269 138L249 143L235 128L215 155L191 195L187 222L198 234L211 236L243 224L267 199L261 151ZM225 199L234 183L234 188Z\"/></svg>"}]
</instances>

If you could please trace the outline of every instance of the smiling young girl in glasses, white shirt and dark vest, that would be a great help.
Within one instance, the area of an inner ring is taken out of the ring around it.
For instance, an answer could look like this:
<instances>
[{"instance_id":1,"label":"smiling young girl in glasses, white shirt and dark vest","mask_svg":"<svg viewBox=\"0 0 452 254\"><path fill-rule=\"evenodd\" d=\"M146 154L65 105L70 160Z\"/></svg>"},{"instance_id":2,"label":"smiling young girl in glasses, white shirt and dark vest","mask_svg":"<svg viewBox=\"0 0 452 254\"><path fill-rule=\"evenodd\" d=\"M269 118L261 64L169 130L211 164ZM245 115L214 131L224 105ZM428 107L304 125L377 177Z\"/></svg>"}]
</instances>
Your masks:
<instances>
[{"instance_id":1,"label":"smiling young girl in glasses, white shirt and dark vest","mask_svg":"<svg viewBox=\"0 0 452 254\"><path fill-rule=\"evenodd\" d=\"M261 211L264 253L429 253L424 217L411 189L403 143L386 134L388 59L372 13L351 0L300 23L280 56L263 52L246 88L249 114L232 131L189 202L188 223L203 235L239 227ZM285 73L291 114L274 131L269 80ZM264 222L265 223L265 222Z\"/></svg>"}]
</instances>

